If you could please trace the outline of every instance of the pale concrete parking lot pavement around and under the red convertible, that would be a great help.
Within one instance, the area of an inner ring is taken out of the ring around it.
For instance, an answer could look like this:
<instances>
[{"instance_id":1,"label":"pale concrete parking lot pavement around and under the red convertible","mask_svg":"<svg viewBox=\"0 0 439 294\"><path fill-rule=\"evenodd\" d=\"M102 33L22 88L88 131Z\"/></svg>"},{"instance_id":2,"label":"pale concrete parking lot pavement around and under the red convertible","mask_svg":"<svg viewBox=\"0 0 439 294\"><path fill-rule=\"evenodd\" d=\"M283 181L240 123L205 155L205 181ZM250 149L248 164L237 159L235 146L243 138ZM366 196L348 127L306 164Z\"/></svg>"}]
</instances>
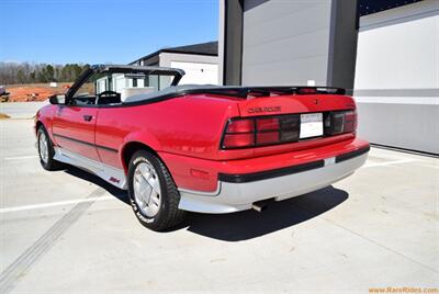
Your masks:
<instances>
[{"instance_id":1,"label":"pale concrete parking lot pavement around and under the red convertible","mask_svg":"<svg viewBox=\"0 0 439 294\"><path fill-rule=\"evenodd\" d=\"M439 287L437 158L372 148L334 186L154 233L125 192L44 171L32 121L0 124L0 293Z\"/></svg>"}]
</instances>

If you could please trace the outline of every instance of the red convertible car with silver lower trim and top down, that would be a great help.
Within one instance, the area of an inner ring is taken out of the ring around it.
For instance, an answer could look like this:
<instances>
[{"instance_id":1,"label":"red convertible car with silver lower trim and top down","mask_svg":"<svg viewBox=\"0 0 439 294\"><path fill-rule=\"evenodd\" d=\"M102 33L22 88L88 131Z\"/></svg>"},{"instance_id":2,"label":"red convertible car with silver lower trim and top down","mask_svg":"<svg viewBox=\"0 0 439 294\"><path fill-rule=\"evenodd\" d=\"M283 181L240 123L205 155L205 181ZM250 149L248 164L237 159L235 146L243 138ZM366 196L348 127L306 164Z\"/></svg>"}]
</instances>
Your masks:
<instances>
[{"instance_id":1,"label":"red convertible car with silver lower trim and top down","mask_svg":"<svg viewBox=\"0 0 439 294\"><path fill-rule=\"evenodd\" d=\"M93 66L35 118L43 168L128 190L139 222L258 211L361 167L352 98L336 88L177 86L180 69Z\"/></svg>"}]
</instances>

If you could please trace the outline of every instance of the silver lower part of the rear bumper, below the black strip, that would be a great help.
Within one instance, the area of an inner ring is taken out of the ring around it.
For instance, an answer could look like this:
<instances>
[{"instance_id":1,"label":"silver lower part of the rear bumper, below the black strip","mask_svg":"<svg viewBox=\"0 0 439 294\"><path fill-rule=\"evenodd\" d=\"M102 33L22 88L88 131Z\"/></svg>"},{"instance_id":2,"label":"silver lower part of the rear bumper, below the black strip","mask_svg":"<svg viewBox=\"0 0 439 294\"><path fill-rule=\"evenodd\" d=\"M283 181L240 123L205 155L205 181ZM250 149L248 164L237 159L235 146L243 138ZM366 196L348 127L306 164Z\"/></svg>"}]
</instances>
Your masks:
<instances>
[{"instance_id":1,"label":"silver lower part of the rear bumper, below the black strip","mask_svg":"<svg viewBox=\"0 0 439 294\"><path fill-rule=\"evenodd\" d=\"M338 163L325 161L325 166L308 171L267 180L230 183L218 182L214 193L180 189L179 208L199 213L223 214L251 208L257 201L282 201L328 186L360 168L368 154Z\"/></svg>"}]
</instances>

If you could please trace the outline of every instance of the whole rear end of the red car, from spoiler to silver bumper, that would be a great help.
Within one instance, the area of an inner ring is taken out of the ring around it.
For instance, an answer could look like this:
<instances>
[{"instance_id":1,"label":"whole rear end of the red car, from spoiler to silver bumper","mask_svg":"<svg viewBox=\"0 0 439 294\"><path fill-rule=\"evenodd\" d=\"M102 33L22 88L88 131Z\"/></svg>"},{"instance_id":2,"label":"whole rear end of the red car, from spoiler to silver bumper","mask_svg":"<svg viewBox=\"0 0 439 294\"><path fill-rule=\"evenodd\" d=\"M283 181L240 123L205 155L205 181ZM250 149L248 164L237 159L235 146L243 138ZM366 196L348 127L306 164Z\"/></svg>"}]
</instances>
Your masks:
<instances>
[{"instance_id":1,"label":"whole rear end of the red car, from spoiler to silver bumper","mask_svg":"<svg viewBox=\"0 0 439 294\"><path fill-rule=\"evenodd\" d=\"M218 140L224 160L194 159L189 168L198 171L193 177L214 174L210 186L215 190L180 189L180 208L261 211L267 200L330 185L364 163L369 144L356 136L350 97L340 89L289 90L254 88L237 100L239 115L226 120Z\"/></svg>"}]
</instances>

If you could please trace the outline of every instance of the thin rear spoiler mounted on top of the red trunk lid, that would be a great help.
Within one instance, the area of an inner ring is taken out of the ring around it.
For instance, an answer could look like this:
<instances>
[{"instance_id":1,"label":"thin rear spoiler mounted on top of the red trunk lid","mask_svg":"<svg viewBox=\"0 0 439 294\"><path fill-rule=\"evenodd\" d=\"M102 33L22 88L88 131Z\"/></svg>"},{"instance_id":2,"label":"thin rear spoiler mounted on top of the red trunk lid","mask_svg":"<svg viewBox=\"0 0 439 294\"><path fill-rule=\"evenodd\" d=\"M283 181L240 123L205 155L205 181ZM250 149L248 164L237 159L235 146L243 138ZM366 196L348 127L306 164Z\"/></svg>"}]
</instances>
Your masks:
<instances>
[{"instance_id":1,"label":"thin rear spoiler mounted on top of the red trunk lid","mask_svg":"<svg viewBox=\"0 0 439 294\"><path fill-rule=\"evenodd\" d=\"M191 89L187 91L190 94L209 93L237 98L270 97L284 94L346 94L346 90L333 87L214 87Z\"/></svg>"}]
</instances>

